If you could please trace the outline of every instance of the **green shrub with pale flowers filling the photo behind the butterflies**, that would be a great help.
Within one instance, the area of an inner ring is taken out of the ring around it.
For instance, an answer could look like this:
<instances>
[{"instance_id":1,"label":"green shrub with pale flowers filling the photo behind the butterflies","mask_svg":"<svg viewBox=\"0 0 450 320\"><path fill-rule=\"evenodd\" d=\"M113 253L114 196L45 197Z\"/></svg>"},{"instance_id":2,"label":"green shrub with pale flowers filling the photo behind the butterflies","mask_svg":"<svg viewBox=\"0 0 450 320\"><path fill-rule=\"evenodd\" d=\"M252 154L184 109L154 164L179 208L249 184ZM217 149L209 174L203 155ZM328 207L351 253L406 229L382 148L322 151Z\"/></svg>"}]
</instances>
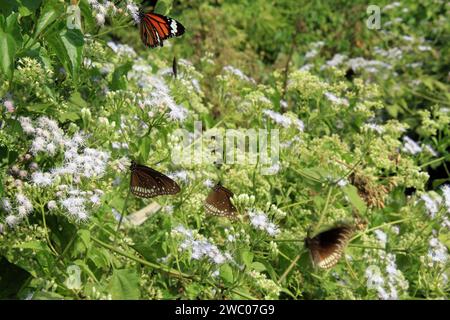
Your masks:
<instances>
[{"instance_id":1,"label":"green shrub with pale flowers filling the photo behind the butterflies","mask_svg":"<svg viewBox=\"0 0 450 320\"><path fill-rule=\"evenodd\" d=\"M369 30L359 1L161 0L186 34L160 49L139 6L0 4L0 298L449 298L448 3ZM174 163L196 121L278 130L279 160ZM181 192L134 197L132 160ZM218 181L236 219L205 213ZM311 263L312 231L361 221Z\"/></svg>"}]
</instances>

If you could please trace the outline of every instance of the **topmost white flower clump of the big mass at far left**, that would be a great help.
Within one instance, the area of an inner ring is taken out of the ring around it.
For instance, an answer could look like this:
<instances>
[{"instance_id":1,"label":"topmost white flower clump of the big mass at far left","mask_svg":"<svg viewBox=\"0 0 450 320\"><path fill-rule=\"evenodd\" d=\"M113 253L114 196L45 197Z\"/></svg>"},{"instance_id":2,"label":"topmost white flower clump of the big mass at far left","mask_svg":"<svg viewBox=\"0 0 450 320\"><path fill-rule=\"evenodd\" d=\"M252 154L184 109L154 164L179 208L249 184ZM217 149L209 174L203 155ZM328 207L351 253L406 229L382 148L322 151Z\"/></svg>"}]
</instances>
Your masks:
<instances>
[{"instance_id":1,"label":"topmost white flower clump of the big mass at far left","mask_svg":"<svg viewBox=\"0 0 450 320\"><path fill-rule=\"evenodd\" d=\"M36 123L33 123L28 117L20 117L19 122L23 131L34 138L31 144L32 154L44 152L53 156L64 146L64 132L58 127L56 121L40 117Z\"/></svg>"}]
</instances>

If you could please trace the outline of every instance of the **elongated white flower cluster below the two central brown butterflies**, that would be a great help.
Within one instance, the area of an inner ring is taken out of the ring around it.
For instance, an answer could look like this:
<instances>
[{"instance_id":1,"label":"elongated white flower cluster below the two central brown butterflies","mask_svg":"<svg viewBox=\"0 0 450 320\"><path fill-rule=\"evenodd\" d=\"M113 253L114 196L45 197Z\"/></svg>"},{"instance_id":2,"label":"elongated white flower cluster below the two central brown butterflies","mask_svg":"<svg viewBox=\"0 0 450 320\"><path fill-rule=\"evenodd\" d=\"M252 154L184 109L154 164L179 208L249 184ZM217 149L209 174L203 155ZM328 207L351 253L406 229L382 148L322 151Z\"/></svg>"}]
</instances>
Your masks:
<instances>
[{"instance_id":1,"label":"elongated white flower cluster below the two central brown butterflies","mask_svg":"<svg viewBox=\"0 0 450 320\"><path fill-rule=\"evenodd\" d=\"M210 262L220 265L233 261L229 253L222 253L216 245L205 239L197 232L179 225L172 230L174 236L180 236L182 241L179 251L189 251L194 260L208 259Z\"/></svg>"}]
</instances>

